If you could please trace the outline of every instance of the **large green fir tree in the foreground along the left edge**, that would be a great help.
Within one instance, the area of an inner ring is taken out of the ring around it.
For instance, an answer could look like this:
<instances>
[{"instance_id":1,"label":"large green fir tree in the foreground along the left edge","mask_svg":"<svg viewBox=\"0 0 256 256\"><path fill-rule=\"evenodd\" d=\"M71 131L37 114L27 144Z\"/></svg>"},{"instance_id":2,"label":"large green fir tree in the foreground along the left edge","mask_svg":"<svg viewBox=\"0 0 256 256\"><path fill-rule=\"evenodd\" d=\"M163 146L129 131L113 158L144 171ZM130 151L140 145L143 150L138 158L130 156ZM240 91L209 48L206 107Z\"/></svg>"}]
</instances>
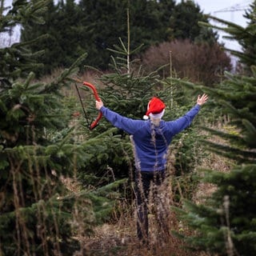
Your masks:
<instances>
[{"instance_id":1,"label":"large green fir tree in the foreground along the left edge","mask_svg":"<svg viewBox=\"0 0 256 256\"><path fill-rule=\"evenodd\" d=\"M14 2L1 14L0 31L43 22L46 4ZM73 254L79 250L74 236L90 234L97 219L110 216L117 197L110 191L120 184L94 191L68 186L85 166L92 142L78 143L62 89L86 55L51 82L38 81L33 71L43 50L28 46L39 39L0 49L0 254L6 256Z\"/></svg>"}]
</instances>

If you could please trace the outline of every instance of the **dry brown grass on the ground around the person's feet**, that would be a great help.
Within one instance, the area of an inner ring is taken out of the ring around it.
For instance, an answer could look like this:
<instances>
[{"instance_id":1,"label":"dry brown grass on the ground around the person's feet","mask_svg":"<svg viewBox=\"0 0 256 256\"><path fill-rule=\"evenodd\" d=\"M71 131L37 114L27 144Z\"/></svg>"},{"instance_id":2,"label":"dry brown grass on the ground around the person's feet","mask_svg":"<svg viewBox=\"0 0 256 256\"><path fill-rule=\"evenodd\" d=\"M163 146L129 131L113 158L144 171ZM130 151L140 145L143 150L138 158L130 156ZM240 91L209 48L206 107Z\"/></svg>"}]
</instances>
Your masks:
<instances>
[{"instance_id":1,"label":"dry brown grass on the ground around the person's feet","mask_svg":"<svg viewBox=\"0 0 256 256\"><path fill-rule=\"evenodd\" d=\"M198 252L192 253L186 249L185 243L163 230L159 230L157 211L167 210L168 214L164 219L164 225L168 230L181 231L184 234L191 234L191 231L176 218L170 210L173 205L172 193L168 182L161 186L163 205L166 209L157 208L150 198L149 202L149 244L142 245L136 234L136 209L127 202L119 206L118 214L113 222L105 223L94 229L94 235L83 237L82 250L75 256L99 256L99 255L120 255L120 256L207 256L208 254ZM130 209L131 208L131 209ZM129 209L129 210L127 210Z\"/></svg>"}]
</instances>

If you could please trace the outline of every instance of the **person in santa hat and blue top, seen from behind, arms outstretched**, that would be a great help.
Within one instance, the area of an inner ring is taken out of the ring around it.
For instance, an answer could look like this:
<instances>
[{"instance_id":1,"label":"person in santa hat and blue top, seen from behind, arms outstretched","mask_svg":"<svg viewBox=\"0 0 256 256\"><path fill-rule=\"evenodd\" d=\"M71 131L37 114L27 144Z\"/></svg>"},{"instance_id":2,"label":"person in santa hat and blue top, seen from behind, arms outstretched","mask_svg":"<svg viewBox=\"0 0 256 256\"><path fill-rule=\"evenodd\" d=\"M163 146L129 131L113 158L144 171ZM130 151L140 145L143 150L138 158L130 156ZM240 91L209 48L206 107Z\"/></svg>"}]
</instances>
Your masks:
<instances>
[{"instance_id":1,"label":"person in santa hat and blue top, seen from behind, arms outstretched","mask_svg":"<svg viewBox=\"0 0 256 256\"><path fill-rule=\"evenodd\" d=\"M148 200L150 184L160 186L166 175L168 147L174 135L190 126L201 106L208 100L206 94L198 95L196 105L181 118L164 121L166 105L160 98L151 98L145 120L134 120L115 113L96 101L96 109L115 127L126 131L134 144L135 196L137 203L137 235L142 242L148 241ZM160 213L158 213L160 214Z\"/></svg>"}]
</instances>

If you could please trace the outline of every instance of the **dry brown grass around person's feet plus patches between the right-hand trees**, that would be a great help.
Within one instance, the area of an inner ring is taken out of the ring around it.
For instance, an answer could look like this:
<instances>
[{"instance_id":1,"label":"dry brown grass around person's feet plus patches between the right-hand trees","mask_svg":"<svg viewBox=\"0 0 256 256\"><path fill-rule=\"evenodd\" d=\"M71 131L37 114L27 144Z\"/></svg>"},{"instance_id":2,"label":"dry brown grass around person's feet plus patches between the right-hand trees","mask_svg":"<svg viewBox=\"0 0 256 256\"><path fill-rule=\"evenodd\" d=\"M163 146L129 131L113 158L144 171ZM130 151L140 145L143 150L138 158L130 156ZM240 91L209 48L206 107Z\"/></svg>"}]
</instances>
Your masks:
<instances>
[{"instance_id":1,"label":"dry brown grass around person's feet plus patches between the right-hand trees","mask_svg":"<svg viewBox=\"0 0 256 256\"><path fill-rule=\"evenodd\" d=\"M221 126L218 124L218 126ZM221 127L218 127L218 129ZM215 142L219 138L212 138ZM200 169L210 169L219 171L230 171L232 163L228 162L226 158L222 158L216 154L209 154L208 158L203 159L200 164ZM162 193L166 206L171 206L174 203L172 189L169 184L163 184ZM212 184L200 183L198 190L194 191L194 202L202 203L205 198L210 196L216 188ZM130 207L130 206L129 206ZM135 206L128 211L129 208L124 204L121 208L121 215L116 217L113 223L105 223L98 226L94 230L94 236L90 238L83 238L85 248L82 254L78 255L129 255L129 256L209 256L206 252L194 252L186 249L186 245L182 240L172 234L158 233L158 224L156 221L156 211L154 207L150 209L149 222L150 222L150 243L149 246L142 246L136 237L136 216ZM170 209L170 208L169 208ZM159 210L159 209L158 209ZM165 220L166 226L170 230L181 231L184 234L191 234L182 222L178 221L174 212L169 210L169 214Z\"/></svg>"}]
</instances>

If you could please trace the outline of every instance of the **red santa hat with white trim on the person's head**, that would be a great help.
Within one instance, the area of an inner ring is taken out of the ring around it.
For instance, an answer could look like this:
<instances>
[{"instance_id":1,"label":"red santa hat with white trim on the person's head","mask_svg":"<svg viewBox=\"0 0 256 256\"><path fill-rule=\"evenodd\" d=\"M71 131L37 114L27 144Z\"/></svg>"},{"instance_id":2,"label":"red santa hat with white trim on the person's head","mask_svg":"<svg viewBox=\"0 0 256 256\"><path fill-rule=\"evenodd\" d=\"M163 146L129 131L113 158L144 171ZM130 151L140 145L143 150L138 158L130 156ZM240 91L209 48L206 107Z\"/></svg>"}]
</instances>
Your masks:
<instances>
[{"instance_id":1,"label":"red santa hat with white trim on the person's head","mask_svg":"<svg viewBox=\"0 0 256 256\"><path fill-rule=\"evenodd\" d=\"M143 119L148 119L149 116L150 118L162 118L165 108L166 105L160 98L153 97L147 105L146 115L143 116Z\"/></svg>"}]
</instances>

